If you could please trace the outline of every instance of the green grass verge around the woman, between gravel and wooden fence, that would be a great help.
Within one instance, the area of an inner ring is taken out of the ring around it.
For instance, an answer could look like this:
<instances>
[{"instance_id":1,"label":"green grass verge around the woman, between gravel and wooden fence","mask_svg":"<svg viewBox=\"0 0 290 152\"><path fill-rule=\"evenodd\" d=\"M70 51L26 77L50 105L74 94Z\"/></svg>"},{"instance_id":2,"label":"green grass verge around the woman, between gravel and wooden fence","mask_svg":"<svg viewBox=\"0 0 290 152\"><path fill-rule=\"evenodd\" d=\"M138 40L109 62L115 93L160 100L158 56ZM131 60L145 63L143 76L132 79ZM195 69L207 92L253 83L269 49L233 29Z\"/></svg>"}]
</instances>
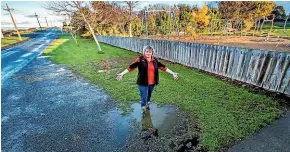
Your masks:
<instances>
[{"instance_id":1,"label":"green grass verge around the woman, between gravel and wooden fence","mask_svg":"<svg viewBox=\"0 0 290 152\"><path fill-rule=\"evenodd\" d=\"M139 54L102 44L104 54L97 53L92 40L79 39L80 46L69 36L62 36L48 48L45 55L65 64L72 71L104 88L122 108L138 102L137 70L128 73L122 81L116 74L123 71ZM110 72L103 70L102 60L107 60ZM200 146L210 151L232 145L279 118L283 110L277 101L246 88L234 86L214 77L190 70L185 66L162 61L170 69L180 73L174 81L168 73L160 71L160 84L153 93L153 102L174 104L187 111L200 129Z\"/></svg>"}]
</instances>

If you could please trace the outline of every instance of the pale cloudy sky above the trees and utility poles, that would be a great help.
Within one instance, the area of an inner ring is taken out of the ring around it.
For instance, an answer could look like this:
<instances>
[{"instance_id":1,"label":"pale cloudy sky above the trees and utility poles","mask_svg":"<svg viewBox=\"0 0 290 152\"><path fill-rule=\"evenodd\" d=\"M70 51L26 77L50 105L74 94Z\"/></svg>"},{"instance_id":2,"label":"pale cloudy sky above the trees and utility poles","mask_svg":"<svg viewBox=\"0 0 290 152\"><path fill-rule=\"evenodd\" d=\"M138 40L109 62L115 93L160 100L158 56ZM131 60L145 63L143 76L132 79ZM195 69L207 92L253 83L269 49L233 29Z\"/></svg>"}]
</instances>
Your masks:
<instances>
[{"instance_id":1,"label":"pale cloudy sky above the trees and utility poles","mask_svg":"<svg viewBox=\"0 0 290 152\"><path fill-rule=\"evenodd\" d=\"M64 16L50 15L46 9L42 6L45 5L46 1L1 1L1 27L13 27L11 18L7 11L4 11L3 8L6 8L6 3L10 8L13 8L12 11L13 17L16 21L16 24L19 28L21 27L38 27L38 22L35 17L35 12L39 15L39 21L41 26L47 26L45 17L49 26L61 26L64 21ZM190 4L202 6L205 4L205 1L142 1L139 4L139 9L148 6L149 4L169 4L174 5L178 3ZM276 1L276 5L282 5L285 8L285 11L290 13L290 1Z\"/></svg>"}]
</instances>

